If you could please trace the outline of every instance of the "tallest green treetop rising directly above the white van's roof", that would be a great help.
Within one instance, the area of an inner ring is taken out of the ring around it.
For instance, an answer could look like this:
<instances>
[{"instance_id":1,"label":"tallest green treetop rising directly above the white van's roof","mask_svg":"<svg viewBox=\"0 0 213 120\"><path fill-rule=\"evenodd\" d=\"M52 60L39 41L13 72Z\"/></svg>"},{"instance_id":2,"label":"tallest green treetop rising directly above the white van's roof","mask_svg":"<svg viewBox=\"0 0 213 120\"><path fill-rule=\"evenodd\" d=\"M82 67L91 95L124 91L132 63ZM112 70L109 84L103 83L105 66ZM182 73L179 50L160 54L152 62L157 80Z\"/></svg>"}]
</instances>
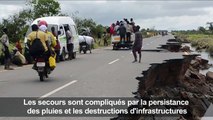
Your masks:
<instances>
[{"instance_id":1,"label":"tallest green treetop rising directly above the white van's roof","mask_svg":"<svg viewBox=\"0 0 213 120\"><path fill-rule=\"evenodd\" d=\"M45 16L54 16L61 13L59 2L55 0L33 0L29 5L33 8L33 19Z\"/></svg>"}]
</instances>

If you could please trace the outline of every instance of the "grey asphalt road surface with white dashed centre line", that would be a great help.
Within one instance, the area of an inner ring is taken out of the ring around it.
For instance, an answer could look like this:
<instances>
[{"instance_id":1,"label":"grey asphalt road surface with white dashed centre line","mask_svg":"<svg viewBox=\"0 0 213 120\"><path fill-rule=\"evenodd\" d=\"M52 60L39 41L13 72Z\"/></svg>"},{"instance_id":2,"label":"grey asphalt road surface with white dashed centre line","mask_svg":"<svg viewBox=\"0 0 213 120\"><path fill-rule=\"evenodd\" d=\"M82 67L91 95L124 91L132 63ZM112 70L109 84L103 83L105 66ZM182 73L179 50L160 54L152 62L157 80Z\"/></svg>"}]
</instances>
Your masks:
<instances>
[{"instance_id":1,"label":"grey asphalt road surface with white dashed centre line","mask_svg":"<svg viewBox=\"0 0 213 120\"><path fill-rule=\"evenodd\" d=\"M155 36L144 39L143 49L156 49L165 44L172 35ZM44 82L39 81L32 66L24 66L13 71L0 71L0 97L133 97L137 91L142 71L151 63L181 58L182 53L142 52L141 63L132 63L131 50L116 50L112 47L95 49L92 54L77 54L77 58L57 64L57 68ZM59 118L4 118L0 120L46 120ZM85 119L88 118L60 118ZM90 118L103 119L103 118ZM109 119L109 118L104 118Z\"/></svg>"}]
</instances>

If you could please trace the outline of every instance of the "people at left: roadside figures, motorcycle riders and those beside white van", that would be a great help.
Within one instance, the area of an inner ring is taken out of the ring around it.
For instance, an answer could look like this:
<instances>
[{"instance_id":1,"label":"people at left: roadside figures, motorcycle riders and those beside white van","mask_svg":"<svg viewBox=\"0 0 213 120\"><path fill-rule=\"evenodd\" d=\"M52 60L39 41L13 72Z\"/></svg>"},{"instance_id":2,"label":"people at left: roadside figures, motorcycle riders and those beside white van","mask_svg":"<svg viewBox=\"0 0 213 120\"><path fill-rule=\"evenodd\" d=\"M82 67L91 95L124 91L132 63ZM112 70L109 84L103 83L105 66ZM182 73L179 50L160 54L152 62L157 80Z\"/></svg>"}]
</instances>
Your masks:
<instances>
[{"instance_id":1,"label":"people at left: roadside figures, motorcycle riders and those beside white van","mask_svg":"<svg viewBox=\"0 0 213 120\"><path fill-rule=\"evenodd\" d=\"M35 59L37 56L43 55L45 57L45 60L48 61L48 58L52 56L55 58L56 62L59 62L61 46L58 41L58 33L56 33L55 28L51 27L51 31L48 31L47 22L41 20L38 22L38 24L33 24L31 26L31 29L32 32L27 36L27 46L29 47L31 57ZM68 59L72 59L73 36L68 26L64 26L64 29L67 37L67 50L69 56ZM8 29L3 28L2 32L3 35L2 37L0 37L0 42L2 44L2 52L4 53L4 69L13 70L13 68L10 67L12 56L9 50L9 37L7 35ZM39 46L38 43L35 43L36 39L40 41L41 46ZM32 47L33 44L37 44L37 46ZM20 40L18 40L15 44L15 48L13 49L13 51L15 51L14 54L19 57L24 57L22 55L22 49L23 48L21 46ZM22 61L26 61L25 57Z\"/></svg>"}]
</instances>

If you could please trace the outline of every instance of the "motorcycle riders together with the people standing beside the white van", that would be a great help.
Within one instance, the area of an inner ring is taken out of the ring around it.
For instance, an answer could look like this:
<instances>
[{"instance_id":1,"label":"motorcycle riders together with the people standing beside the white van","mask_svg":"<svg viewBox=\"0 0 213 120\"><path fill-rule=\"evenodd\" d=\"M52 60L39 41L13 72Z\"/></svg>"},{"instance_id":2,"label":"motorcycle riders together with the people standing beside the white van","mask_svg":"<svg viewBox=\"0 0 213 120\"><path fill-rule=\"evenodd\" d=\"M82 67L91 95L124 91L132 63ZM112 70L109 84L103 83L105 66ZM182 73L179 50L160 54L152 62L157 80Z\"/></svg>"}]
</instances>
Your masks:
<instances>
[{"instance_id":1,"label":"motorcycle riders together with the people standing beside the white van","mask_svg":"<svg viewBox=\"0 0 213 120\"><path fill-rule=\"evenodd\" d=\"M67 38L67 50L68 50L68 59L73 58L73 36L72 33L69 30L68 26L64 26L64 30L66 32L66 38ZM35 39L40 39L43 50L39 50L39 48L33 48L33 43ZM30 54L35 58L37 55L43 54L45 57L45 60L48 61L49 57L53 57L56 59L57 62L59 62L59 55L60 55L60 43L58 41L58 35L55 32L54 26L51 27L51 32L48 31L48 24L46 21L39 21L38 25L33 24L32 25L32 32L27 36L27 44L30 46L29 48L32 48L32 51L38 51L31 52Z\"/></svg>"}]
</instances>

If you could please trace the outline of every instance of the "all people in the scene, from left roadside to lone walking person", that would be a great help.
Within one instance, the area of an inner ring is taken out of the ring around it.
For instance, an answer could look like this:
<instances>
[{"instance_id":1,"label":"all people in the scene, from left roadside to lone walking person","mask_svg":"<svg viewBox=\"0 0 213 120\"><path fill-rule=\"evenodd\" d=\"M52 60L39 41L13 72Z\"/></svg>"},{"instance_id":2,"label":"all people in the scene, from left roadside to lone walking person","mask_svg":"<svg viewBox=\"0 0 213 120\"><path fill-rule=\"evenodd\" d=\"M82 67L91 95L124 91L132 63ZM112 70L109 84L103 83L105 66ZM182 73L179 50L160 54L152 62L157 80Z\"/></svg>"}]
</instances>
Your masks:
<instances>
[{"instance_id":1,"label":"all people in the scene, from left roadside to lone walking person","mask_svg":"<svg viewBox=\"0 0 213 120\"><path fill-rule=\"evenodd\" d=\"M51 28L51 32L48 31L48 24L45 21L39 21L38 24L33 24L31 26L32 32L27 36L27 45L32 46L32 43L35 39L39 39L42 43L43 50L40 52L43 52L46 58L48 59L50 56L53 56L56 58L56 61L59 61L59 53L60 53L60 44L58 41L58 36L55 32L55 28ZM68 26L64 26L66 37L67 37L67 50L68 50L68 56L69 59L72 59L73 54L73 38L72 33L69 30ZM141 48L142 48L142 33L139 32L140 26L135 26L135 22L131 18L130 21L128 19L124 18L123 21L117 21L116 24L112 24L110 26L109 33L110 35L120 35L120 41L125 40L127 42L131 41L131 34L135 34L135 41L133 43L133 55L134 55L134 61L137 61L137 55L136 52L139 54L139 62L141 62ZM5 61L5 69L12 70L10 68L10 62L11 62L11 55L9 52L9 38L8 38L8 30L7 28L3 29L3 35L0 38L0 42L2 43L2 51L4 53L4 61ZM22 47L20 46L20 41L17 41L16 43L17 50L22 53ZM41 49L41 48L36 48ZM42 53L42 54L43 54ZM39 53L41 54L41 53ZM32 56L35 58L36 55L32 54ZM46 60L47 60L46 59Z\"/></svg>"}]
</instances>

